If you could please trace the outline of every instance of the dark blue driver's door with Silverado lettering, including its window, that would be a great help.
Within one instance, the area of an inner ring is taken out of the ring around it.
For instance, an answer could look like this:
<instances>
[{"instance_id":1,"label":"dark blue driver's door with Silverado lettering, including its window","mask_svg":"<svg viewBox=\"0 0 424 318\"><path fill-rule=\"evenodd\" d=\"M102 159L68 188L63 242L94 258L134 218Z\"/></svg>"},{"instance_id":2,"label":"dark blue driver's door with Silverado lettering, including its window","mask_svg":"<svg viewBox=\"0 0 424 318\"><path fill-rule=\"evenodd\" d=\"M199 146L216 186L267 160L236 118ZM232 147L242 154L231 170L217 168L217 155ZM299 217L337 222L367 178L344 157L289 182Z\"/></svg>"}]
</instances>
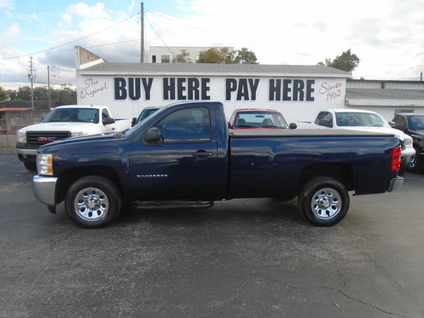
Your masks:
<instances>
[{"instance_id":1,"label":"dark blue driver's door with Silverado lettering, including its window","mask_svg":"<svg viewBox=\"0 0 424 318\"><path fill-rule=\"evenodd\" d=\"M218 151L213 103L177 109L153 127L159 128L163 139L146 145L134 137L131 144L136 198L215 198Z\"/></svg>"}]
</instances>

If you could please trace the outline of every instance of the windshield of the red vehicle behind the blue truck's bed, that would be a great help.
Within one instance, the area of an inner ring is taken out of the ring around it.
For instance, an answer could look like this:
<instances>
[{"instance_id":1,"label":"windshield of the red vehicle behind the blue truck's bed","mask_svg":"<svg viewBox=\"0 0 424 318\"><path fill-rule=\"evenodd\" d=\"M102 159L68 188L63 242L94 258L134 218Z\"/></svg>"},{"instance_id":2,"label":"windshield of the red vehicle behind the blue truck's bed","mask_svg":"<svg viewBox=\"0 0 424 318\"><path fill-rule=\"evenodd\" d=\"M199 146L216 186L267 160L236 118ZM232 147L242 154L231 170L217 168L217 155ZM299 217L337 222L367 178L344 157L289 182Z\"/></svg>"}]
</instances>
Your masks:
<instances>
[{"instance_id":1,"label":"windshield of the red vehicle behind the blue truck's bed","mask_svg":"<svg viewBox=\"0 0 424 318\"><path fill-rule=\"evenodd\" d=\"M262 110L238 112L235 127L288 128L282 114L279 112L267 112Z\"/></svg>"}]
</instances>

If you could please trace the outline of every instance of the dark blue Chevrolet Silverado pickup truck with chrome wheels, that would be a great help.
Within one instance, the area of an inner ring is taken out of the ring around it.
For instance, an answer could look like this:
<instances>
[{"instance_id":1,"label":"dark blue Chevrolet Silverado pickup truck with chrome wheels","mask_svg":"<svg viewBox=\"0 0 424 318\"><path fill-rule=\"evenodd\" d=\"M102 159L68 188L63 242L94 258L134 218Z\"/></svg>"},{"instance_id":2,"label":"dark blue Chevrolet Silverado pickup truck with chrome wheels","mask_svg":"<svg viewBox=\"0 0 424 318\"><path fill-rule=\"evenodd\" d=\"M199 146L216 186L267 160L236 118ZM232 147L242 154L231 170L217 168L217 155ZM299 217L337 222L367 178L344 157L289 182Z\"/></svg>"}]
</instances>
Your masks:
<instances>
[{"instance_id":1,"label":"dark blue Chevrolet Silverado pickup truck with chrome wheels","mask_svg":"<svg viewBox=\"0 0 424 318\"><path fill-rule=\"evenodd\" d=\"M231 130L222 103L163 107L128 131L74 137L39 148L37 200L56 213L65 201L81 226L113 221L121 200L142 209L198 209L232 198L298 197L298 210L332 226L349 193L398 190L399 138L316 130ZM187 201L183 205L164 205Z\"/></svg>"}]
</instances>

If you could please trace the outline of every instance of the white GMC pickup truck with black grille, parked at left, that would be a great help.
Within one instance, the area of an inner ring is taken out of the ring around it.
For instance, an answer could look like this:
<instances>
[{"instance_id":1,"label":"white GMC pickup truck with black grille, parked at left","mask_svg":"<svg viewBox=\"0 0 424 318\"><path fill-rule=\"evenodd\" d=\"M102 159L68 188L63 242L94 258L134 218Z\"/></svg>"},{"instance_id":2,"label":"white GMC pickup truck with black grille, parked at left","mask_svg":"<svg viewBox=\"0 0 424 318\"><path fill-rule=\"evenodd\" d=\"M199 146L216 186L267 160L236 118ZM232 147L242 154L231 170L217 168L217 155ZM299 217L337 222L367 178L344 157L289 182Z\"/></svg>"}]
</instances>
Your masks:
<instances>
[{"instance_id":1,"label":"white GMC pickup truck with black grille, parked at left","mask_svg":"<svg viewBox=\"0 0 424 318\"><path fill-rule=\"evenodd\" d=\"M42 145L65 138L112 133L127 128L131 128L131 120L114 119L106 106L58 106L41 123L18 131L16 151L25 168L36 171L37 151Z\"/></svg>"}]
</instances>

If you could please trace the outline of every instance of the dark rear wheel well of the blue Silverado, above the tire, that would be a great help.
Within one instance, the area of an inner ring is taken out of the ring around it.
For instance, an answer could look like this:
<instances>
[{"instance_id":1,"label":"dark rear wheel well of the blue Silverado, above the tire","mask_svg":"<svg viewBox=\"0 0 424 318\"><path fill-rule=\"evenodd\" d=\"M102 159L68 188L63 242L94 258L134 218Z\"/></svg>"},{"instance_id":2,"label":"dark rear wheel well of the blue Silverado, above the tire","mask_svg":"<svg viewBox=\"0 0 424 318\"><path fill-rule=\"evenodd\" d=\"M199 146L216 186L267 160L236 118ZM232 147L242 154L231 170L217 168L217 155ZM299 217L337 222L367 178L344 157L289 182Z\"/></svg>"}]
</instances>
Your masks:
<instances>
[{"instance_id":1,"label":"dark rear wheel well of the blue Silverado, above the tire","mask_svg":"<svg viewBox=\"0 0 424 318\"><path fill-rule=\"evenodd\" d=\"M357 185L357 169L348 162L326 162L305 166L299 176L297 192L310 179L330 177L340 181L348 191L355 190Z\"/></svg>"}]
</instances>

